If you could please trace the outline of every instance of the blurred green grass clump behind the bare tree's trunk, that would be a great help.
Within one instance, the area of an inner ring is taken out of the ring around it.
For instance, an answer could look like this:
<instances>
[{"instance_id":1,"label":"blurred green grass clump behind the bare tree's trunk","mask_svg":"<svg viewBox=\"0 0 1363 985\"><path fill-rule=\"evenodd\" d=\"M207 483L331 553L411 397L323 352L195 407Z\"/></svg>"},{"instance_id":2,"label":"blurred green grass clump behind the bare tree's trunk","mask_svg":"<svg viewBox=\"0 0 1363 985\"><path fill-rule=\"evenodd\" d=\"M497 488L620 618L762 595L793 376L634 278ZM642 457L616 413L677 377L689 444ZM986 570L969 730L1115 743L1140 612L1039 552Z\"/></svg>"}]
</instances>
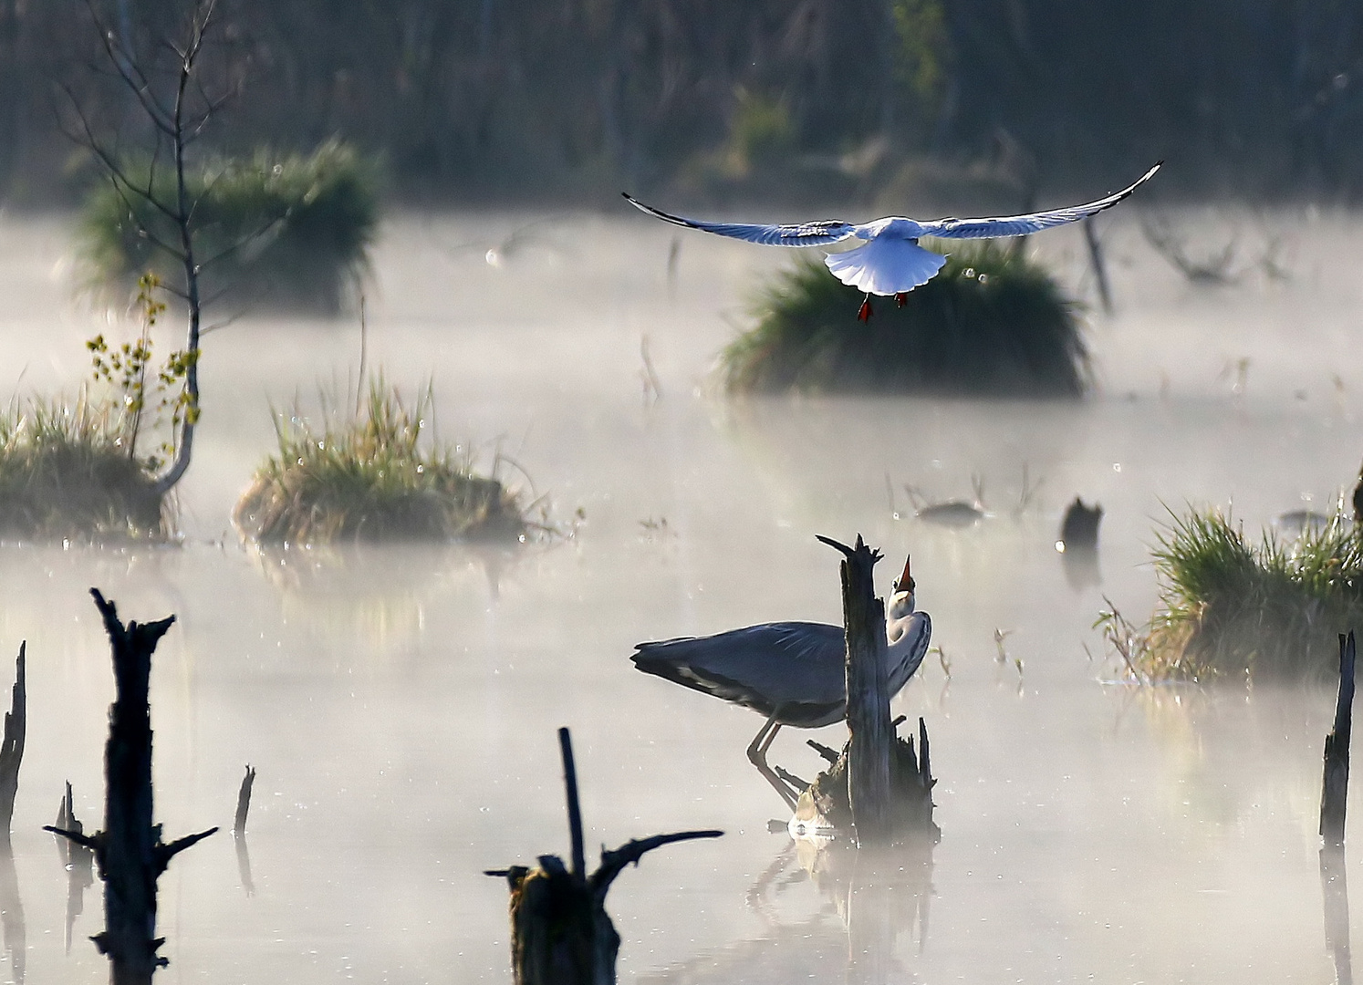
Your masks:
<instances>
[{"instance_id":1,"label":"blurred green grass clump behind the bare tree's trunk","mask_svg":"<svg viewBox=\"0 0 1363 985\"><path fill-rule=\"evenodd\" d=\"M150 162L127 168L146 187ZM252 302L337 311L357 287L378 228L379 183L376 166L349 146L333 140L284 157L262 150L210 162L185 181L206 300L226 290ZM164 161L151 187L174 204L174 173ZM183 287L183 267L153 241L179 248L180 232L136 193L101 184L86 200L82 233L94 285L127 286L151 271Z\"/></svg>"}]
</instances>

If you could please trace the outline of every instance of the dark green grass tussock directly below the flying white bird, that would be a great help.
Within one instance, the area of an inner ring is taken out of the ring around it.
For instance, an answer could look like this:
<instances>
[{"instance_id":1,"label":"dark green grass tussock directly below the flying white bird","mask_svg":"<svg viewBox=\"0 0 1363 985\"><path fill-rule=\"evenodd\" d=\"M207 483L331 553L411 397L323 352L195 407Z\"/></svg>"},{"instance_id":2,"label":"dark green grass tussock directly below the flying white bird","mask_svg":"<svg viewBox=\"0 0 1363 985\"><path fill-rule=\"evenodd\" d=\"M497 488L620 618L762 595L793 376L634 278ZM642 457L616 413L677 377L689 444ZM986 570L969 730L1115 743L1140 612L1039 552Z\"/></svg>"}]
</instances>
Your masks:
<instances>
[{"instance_id":1,"label":"dark green grass tussock directly below the flying white bird","mask_svg":"<svg viewBox=\"0 0 1363 985\"><path fill-rule=\"evenodd\" d=\"M754 305L756 327L720 357L725 387L1078 396L1088 383L1075 304L1007 245L953 244L904 308L874 298L867 323L861 298L819 260L778 274Z\"/></svg>"}]
</instances>

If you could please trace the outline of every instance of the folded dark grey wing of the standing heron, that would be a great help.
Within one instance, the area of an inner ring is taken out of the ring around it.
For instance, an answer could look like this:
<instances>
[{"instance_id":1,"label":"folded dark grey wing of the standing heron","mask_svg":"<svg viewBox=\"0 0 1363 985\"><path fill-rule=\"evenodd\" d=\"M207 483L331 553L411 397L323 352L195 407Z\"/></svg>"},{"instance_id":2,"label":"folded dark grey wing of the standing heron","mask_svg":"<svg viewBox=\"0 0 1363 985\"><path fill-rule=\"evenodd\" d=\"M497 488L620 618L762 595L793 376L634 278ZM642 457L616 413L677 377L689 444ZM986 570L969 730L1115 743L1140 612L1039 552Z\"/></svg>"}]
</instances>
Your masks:
<instances>
[{"instance_id":1,"label":"folded dark grey wing of the standing heron","mask_svg":"<svg viewBox=\"0 0 1363 985\"><path fill-rule=\"evenodd\" d=\"M825 623L765 623L714 636L639 643L645 673L766 711L845 700L844 632Z\"/></svg>"}]
</instances>

